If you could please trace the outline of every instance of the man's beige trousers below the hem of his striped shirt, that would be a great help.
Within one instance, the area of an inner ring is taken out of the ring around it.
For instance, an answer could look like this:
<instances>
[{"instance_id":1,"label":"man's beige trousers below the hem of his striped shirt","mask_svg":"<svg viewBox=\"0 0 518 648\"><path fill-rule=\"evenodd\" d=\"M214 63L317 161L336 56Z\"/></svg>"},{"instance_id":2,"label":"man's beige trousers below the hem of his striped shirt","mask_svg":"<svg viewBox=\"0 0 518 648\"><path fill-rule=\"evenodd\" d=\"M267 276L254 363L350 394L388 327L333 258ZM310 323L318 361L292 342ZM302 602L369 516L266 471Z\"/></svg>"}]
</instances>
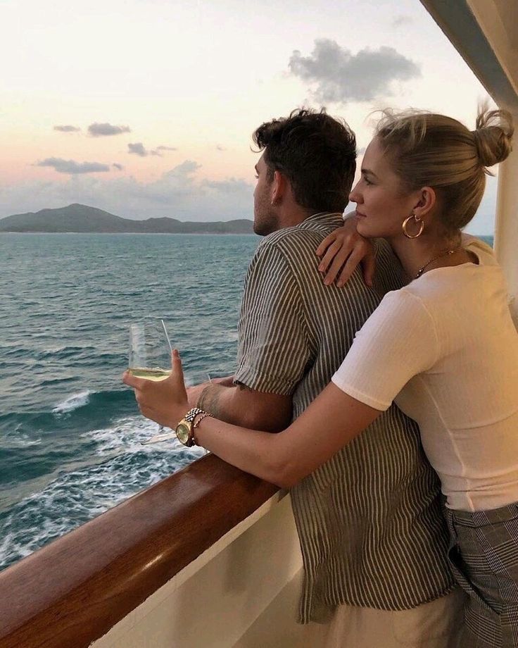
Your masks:
<instances>
[{"instance_id":1,"label":"man's beige trousers below the hem of his striped shirt","mask_svg":"<svg viewBox=\"0 0 518 648\"><path fill-rule=\"evenodd\" d=\"M329 624L325 648L455 648L465 594L402 612L341 605Z\"/></svg>"}]
</instances>

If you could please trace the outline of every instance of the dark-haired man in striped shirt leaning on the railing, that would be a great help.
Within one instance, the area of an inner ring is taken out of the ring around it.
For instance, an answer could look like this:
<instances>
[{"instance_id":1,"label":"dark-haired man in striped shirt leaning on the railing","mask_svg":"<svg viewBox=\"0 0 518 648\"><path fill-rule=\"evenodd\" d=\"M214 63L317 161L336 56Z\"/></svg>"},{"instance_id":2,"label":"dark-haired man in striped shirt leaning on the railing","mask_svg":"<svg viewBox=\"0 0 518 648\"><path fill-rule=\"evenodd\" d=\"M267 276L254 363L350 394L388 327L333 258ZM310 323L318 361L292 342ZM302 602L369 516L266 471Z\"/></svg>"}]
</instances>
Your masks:
<instances>
[{"instance_id":1,"label":"dark-haired man in striped shirt leaning on the railing","mask_svg":"<svg viewBox=\"0 0 518 648\"><path fill-rule=\"evenodd\" d=\"M233 380L191 387L189 403L275 432L327 385L355 332L403 277L384 242L372 287L359 270L345 287L324 285L318 273L315 251L343 224L355 173L346 124L293 111L253 138L263 151L254 230L265 239L246 275L237 368ZM335 616L336 646L446 648L457 606L444 596L453 579L438 480L415 423L392 406L293 487L291 501L305 568L301 622L327 621L341 606L348 616Z\"/></svg>"}]
</instances>

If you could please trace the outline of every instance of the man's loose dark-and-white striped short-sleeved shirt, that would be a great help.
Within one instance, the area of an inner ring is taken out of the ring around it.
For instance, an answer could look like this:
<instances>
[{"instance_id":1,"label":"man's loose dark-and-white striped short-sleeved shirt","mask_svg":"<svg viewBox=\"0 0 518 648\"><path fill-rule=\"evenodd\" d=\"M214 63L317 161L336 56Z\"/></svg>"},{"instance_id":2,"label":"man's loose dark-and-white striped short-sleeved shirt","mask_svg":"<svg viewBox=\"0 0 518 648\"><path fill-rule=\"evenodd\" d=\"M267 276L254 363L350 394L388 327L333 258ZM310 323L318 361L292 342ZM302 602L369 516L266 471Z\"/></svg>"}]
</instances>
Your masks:
<instances>
[{"instance_id":1,"label":"man's loose dark-and-white striped short-sleeved shirt","mask_svg":"<svg viewBox=\"0 0 518 648\"><path fill-rule=\"evenodd\" d=\"M274 232L246 275L235 380L290 394L293 418L327 385L381 297L404 282L379 240L372 288L360 270L345 287L325 286L315 250L341 224L320 213ZM410 609L450 591L439 494L416 423L394 405L293 487L305 570L300 621L324 621L339 604Z\"/></svg>"}]
</instances>

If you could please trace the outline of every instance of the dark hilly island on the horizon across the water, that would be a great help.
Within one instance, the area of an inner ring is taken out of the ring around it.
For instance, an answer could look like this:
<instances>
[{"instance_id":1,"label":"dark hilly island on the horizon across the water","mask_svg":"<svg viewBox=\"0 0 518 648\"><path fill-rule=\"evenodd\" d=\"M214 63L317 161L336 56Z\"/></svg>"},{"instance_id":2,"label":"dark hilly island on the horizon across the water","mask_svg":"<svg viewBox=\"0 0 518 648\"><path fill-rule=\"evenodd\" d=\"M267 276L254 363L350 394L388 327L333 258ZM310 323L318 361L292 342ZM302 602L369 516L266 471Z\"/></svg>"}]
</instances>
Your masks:
<instances>
[{"instance_id":1,"label":"dark hilly island on the horizon across the water","mask_svg":"<svg viewBox=\"0 0 518 648\"><path fill-rule=\"evenodd\" d=\"M182 222L176 218L147 218L132 220L113 213L72 204L58 209L18 213L0 219L0 232L74 232L106 234L253 234L253 222L239 220L213 223Z\"/></svg>"}]
</instances>

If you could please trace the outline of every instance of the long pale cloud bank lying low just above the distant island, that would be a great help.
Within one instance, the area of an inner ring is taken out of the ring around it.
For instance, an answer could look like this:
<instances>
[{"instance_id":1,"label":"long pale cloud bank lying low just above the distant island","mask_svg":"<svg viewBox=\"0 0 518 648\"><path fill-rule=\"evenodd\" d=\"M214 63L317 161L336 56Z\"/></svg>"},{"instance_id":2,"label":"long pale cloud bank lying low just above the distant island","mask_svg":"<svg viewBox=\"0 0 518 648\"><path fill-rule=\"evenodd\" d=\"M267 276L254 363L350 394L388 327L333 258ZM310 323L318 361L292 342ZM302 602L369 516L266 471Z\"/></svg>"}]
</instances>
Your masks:
<instances>
[{"instance_id":1,"label":"long pale cloud bank lying low just above the distant island","mask_svg":"<svg viewBox=\"0 0 518 648\"><path fill-rule=\"evenodd\" d=\"M198 222L253 218L250 182L235 177L201 178L200 169L196 161L186 160L150 182L114 173L11 186L0 183L0 216L81 203L125 218L170 216Z\"/></svg>"}]
</instances>

